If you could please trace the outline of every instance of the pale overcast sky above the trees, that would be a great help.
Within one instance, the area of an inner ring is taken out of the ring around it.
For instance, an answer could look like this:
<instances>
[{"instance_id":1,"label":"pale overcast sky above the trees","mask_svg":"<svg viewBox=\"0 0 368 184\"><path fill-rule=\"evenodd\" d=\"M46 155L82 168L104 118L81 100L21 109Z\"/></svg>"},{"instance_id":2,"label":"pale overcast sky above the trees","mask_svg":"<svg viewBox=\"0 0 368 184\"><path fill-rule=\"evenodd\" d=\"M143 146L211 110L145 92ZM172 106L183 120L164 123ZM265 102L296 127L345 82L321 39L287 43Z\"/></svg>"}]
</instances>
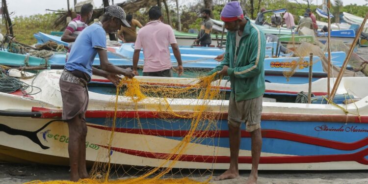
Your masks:
<instances>
[{"instance_id":1,"label":"pale overcast sky above the trees","mask_svg":"<svg viewBox=\"0 0 368 184\"><path fill-rule=\"evenodd\" d=\"M74 0L69 0L70 6L74 6ZM77 0L80 2L83 0ZM124 2L125 0L114 0L114 3ZM187 2L194 2L196 0L179 0L179 4L183 5ZM343 0L343 4L347 5L347 1L352 4L363 5L367 3L365 0ZM111 0L110 0L111 2ZM314 2L321 3L322 0L314 0ZM15 16L29 16L34 14L44 14L50 11L46 9L58 10L67 9L67 0L7 0L9 12L15 12ZM102 0L94 0L97 7L102 5Z\"/></svg>"}]
</instances>

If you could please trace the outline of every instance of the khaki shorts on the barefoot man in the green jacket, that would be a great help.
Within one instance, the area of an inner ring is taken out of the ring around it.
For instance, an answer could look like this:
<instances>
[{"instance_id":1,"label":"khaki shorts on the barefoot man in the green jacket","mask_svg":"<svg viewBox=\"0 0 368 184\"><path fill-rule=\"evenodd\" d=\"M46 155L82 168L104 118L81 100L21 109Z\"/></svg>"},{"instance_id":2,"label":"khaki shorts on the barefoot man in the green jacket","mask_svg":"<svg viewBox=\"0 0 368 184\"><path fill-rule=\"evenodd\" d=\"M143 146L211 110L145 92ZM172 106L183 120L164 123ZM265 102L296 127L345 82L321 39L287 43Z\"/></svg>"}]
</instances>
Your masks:
<instances>
[{"instance_id":1,"label":"khaki shorts on the barefoot man in the green jacket","mask_svg":"<svg viewBox=\"0 0 368 184\"><path fill-rule=\"evenodd\" d=\"M255 131L261 128L263 96L236 102L232 97L229 101L228 124L233 127L240 127L245 122L245 131Z\"/></svg>"}]
</instances>

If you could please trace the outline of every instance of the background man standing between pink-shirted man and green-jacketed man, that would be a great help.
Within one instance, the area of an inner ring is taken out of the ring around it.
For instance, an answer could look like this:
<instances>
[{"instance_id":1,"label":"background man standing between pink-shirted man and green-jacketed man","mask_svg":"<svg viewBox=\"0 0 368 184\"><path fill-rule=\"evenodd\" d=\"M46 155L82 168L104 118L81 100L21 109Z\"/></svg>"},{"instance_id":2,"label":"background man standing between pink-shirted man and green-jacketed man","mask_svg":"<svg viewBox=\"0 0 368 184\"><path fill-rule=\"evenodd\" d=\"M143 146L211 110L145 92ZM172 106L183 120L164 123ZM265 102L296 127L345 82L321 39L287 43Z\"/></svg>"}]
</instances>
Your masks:
<instances>
[{"instance_id":1,"label":"background man standing between pink-shirted man and green-jacketed man","mask_svg":"<svg viewBox=\"0 0 368 184\"><path fill-rule=\"evenodd\" d=\"M201 47L210 47L212 39L211 39L211 30L213 23L211 21L211 10L204 9L202 11L202 18L204 19L201 23L201 30L198 33L197 39L194 42Z\"/></svg>"}]
</instances>

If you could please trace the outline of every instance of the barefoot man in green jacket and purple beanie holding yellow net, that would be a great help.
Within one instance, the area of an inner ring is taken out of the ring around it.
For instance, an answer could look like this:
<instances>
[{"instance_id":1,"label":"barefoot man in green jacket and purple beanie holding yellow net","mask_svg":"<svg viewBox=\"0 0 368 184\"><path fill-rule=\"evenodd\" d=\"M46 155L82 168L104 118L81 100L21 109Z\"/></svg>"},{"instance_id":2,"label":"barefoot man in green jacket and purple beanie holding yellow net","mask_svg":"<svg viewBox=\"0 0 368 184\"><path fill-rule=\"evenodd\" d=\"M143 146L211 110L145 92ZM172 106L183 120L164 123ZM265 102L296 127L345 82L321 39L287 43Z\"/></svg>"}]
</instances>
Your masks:
<instances>
[{"instance_id":1,"label":"barefoot man in green jacket and purple beanie holding yellow net","mask_svg":"<svg viewBox=\"0 0 368 184\"><path fill-rule=\"evenodd\" d=\"M246 131L252 139L252 171L246 184L256 184L258 163L261 155L261 113L265 91L264 53L265 37L262 30L243 16L239 1L225 5L221 20L229 31L226 38L224 60L208 75L230 76L231 96L229 100L230 168L215 180L233 179L239 176L238 155L240 125L246 124Z\"/></svg>"}]
</instances>

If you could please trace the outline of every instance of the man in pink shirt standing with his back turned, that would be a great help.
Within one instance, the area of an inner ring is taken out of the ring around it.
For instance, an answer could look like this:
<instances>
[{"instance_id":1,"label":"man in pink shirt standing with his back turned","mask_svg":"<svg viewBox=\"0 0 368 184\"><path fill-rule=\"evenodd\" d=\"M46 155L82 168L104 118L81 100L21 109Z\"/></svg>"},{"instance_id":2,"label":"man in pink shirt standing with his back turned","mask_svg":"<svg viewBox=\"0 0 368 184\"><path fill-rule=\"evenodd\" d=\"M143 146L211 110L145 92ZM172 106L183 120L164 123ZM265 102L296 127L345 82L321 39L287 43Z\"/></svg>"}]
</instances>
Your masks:
<instances>
[{"instance_id":1,"label":"man in pink shirt standing with his back turned","mask_svg":"<svg viewBox=\"0 0 368 184\"><path fill-rule=\"evenodd\" d=\"M183 73L183 63L179 47L171 26L163 24L162 13L158 6L148 11L150 22L138 31L133 54L133 73L138 75L137 65L140 50L143 49L143 76L173 77L169 45L178 62L178 75Z\"/></svg>"}]
</instances>

